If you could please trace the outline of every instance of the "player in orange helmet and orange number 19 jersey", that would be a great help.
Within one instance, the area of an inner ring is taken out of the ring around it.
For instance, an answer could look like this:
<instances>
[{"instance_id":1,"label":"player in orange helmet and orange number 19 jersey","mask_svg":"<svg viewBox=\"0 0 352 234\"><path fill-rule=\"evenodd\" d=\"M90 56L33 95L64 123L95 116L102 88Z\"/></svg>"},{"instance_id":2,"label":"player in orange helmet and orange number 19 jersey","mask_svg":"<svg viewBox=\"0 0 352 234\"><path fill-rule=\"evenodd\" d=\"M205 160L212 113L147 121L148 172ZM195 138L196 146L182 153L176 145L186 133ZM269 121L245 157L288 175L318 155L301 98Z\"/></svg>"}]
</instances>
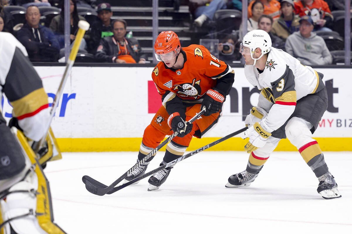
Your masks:
<instances>
[{"instance_id":1,"label":"player in orange helmet and orange number 19 jersey","mask_svg":"<svg viewBox=\"0 0 352 234\"><path fill-rule=\"evenodd\" d=\"M162 106L144 131L137 162L156 148L165 135L178 132L166 147L162 161L165 165L183 155L192 136L201 138L218 122L222 103L234 81L234 72L204 46L182 48L178 36L172 31L161 32L154 49L160 62L152 72L152 79L161 95ZM193 124L187 124L203 107L206 108L205 114ZM143 175L152 158L129 174L125 182ZM167 167L153 174L148 180L148 190L158 189L171 169Z\"/></svg>"}]
</instances>

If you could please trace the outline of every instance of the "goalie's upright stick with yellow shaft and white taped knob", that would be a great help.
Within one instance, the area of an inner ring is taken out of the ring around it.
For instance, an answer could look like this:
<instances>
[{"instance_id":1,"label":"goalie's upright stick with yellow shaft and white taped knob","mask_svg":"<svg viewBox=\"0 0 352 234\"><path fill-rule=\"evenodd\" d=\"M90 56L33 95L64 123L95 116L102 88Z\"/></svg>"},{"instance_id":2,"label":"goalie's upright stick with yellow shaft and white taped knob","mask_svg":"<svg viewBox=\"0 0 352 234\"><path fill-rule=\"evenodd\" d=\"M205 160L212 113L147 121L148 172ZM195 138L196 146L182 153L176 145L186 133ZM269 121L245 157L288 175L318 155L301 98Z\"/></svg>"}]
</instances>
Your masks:
<instances>
[{"instance_id":1,"label":"goalie's upright stick with yellow shaft and white taped knob","mask_svg":"<svg viewBox=\"0 0 352 234\"><path fill-rule=\"evenodd\" d=\"M69 59L67 60L67 63L66 63L65 72L64 72L64 74L62 76L59 88L57 89L57 93L55 95L54 101L52 102L52 108L51 108L51 111L50 111L50 120L49 120L49 124L48 124L48 126L46 128L46 133L43 136L43 138L40 139L40 141L36 141L32 145L33 151L35 153L38 153L39 149L44 145L44 142L45 142L45 139L46 139L46 135L48 135L48 131L49 131L52 119L54 118L54 114L55 114L55 111L56 111L56 108L57 108L57 105L58 105L58 100L62 96L62 93L64 91L64 87L65 87L65 83L67 81L68 75L69 75L69 73L71 71L71 68L73 66L73 63L76 60L78 49L79 49L79 47L81 45L81 41L83 39L84 33L86 33L86 31L89 29L89 26L90 25L89 25L89 23L87 21L84 21L84 20L78 21L78 32L77 32L77 35L76 35L75 43L73 44L73 47L71 49L71 53L70 53Z\"/></svg>"}]
</instances>

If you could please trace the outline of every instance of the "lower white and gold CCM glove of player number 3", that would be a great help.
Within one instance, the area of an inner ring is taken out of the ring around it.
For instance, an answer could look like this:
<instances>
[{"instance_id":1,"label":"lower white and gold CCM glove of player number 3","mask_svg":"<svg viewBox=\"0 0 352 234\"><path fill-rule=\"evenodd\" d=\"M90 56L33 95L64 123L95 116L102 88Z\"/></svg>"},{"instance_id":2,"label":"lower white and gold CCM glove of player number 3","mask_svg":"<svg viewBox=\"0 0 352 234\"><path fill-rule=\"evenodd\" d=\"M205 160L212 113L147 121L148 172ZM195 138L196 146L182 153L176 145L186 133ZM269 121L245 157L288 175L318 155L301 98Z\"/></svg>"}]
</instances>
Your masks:
<instances>
[{"instance_id":1,"label":"lower white and gold CCM glove of player number 3","mask_svg":"<svg viewBox=\"0 0 352 234\"><path fill-rule=\"evenodd\" d=\"M245 145L244 150L247 151L247 153L251 153L263 147L269 136L271 136L271 133L265 131L258 122L254 123L254 125L248 128L243 136L241 136L243 139L249 138L249 142Z\"/></svg>"}]
</instances>

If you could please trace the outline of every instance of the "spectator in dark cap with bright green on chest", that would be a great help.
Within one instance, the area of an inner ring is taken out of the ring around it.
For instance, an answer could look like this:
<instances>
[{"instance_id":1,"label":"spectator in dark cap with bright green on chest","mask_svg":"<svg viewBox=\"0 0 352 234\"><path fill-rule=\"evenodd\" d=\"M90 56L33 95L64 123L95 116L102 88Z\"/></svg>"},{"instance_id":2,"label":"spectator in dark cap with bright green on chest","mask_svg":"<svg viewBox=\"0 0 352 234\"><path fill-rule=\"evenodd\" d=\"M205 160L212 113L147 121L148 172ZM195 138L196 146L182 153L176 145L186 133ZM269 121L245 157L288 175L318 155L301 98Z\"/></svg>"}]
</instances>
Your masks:
<instances>
[{"instance_id":1,"label":"spectator in dark cap with bright green on chest","mask_svg":"<svg viewBox=\"0 0 352 234\"><path fill-rule=\"evenodd\" d=\"M91 25L92 30L90 31L90 50L95 54L96 49L99 46L100 40L106 36L112 36L111 27L111 6L108 3L102 3L98 5L99 20Z\"/></svg>"}]
</instances>

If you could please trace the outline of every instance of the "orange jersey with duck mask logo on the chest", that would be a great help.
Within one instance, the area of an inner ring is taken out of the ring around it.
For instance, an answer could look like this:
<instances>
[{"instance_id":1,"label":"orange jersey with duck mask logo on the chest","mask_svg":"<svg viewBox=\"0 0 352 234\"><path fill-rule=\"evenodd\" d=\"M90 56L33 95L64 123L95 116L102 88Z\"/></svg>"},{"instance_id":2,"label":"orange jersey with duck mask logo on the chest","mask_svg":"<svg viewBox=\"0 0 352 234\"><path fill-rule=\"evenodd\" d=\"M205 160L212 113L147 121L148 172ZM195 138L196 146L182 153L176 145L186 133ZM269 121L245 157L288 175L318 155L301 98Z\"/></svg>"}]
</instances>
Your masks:
<instances>
[{"instance_id":1,"label":"orange jersey with duck mask logo on the chest","mask_svg":"<svg viewBox=\"0 0 352 234\"><path fill-rule=\"evenodd\" d=\"M153 69L152 79L161 95L170 91L184 100L200 99L216 85L216 78L228 72L228 65L204 46L190 45L182 48L181 53L185 60L182 69L169 69L163 62Z\"/></svg>"}]
</instances>

